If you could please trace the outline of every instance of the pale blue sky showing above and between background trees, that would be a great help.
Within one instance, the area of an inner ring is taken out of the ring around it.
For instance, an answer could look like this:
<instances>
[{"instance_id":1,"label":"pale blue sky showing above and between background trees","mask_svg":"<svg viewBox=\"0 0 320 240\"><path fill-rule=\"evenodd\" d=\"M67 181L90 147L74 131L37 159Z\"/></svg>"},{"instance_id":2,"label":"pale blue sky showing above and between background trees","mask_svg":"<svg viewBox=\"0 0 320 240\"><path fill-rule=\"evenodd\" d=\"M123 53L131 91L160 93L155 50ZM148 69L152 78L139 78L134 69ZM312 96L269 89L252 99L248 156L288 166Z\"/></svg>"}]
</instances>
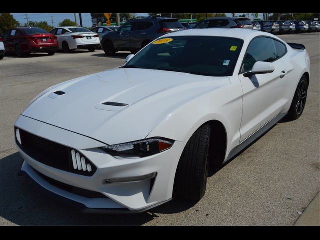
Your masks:
<instances>
[{"instance_id":1,"label":"pale blue sky showing above and between background trees","mask_svg":"<svg viewBox=\"0 0 320 240\"><path fill-rule=\"evenodd\" d=\"M49 25L52 25L52 18L53 17L53 25L58 26L59 22L63 21L64 19L68 18L72 21L74 21L74 13L11 13L14 18L20 22L20 24L23 26L24 23L26 23L26 16L29 19L29 21L47 21ZM136 13L137 16L147 16L147 13ZM243 13L236 13L237 15L243 14ZM260 18L263 18L263 16L260 13ZM231 13L226 13L227 16L231 16ZM80 24L79 20L79 14L76 14L77 22ZM191 17L190 17L191 18ZM90 13L82 13L82 23L85 27L91 27L92 21L91 21L91 15Z\"/></svg>"}]
</instances>

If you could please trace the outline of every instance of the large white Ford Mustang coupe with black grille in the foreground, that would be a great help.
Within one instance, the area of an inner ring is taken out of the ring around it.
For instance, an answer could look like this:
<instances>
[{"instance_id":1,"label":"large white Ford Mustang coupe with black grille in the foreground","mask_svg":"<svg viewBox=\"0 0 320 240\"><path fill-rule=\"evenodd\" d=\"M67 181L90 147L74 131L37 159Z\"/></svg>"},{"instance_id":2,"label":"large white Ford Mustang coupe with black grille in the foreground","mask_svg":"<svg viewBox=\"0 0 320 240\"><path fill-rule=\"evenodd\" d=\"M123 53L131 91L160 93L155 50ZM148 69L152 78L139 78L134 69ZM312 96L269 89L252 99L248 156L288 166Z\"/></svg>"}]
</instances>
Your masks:
<instances>
[{"instance_id":1,"label":"large white Ford Mustang coupe with black grille in the foreground","mask_svg":"<svg viewBox=\"0 0 320 240\"><path fill-rule=\"evenodd\" d=\"M36 96L14 125L21 173L89 212L199 200L209 162L302 114L309 65L303 45L265 32L167 34Z\"/></svg>"}]
</instances>

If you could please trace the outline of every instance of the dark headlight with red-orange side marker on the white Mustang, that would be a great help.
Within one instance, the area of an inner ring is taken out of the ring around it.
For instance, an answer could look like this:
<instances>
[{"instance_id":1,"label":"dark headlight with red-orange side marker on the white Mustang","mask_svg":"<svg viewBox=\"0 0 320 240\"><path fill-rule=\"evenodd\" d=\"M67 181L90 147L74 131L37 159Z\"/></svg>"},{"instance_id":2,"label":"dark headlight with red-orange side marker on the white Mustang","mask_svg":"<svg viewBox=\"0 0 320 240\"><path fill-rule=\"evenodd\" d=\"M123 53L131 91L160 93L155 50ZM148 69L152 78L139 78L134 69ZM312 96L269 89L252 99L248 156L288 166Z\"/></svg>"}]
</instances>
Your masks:
<instances>
[{"instance_id":1,"label":"dark headlight with red-orange side marker on the white Mustang","mask_svg":"<svg viewBox=\"0 0 320 240\"><path fill-rule=\"evenodd\" d=\"M100 147L100 149L117 158L145 157L170 149L173 142L174 141L170 139L155 137L122 144L103 146Z\"/></svg>"}]
</instances>

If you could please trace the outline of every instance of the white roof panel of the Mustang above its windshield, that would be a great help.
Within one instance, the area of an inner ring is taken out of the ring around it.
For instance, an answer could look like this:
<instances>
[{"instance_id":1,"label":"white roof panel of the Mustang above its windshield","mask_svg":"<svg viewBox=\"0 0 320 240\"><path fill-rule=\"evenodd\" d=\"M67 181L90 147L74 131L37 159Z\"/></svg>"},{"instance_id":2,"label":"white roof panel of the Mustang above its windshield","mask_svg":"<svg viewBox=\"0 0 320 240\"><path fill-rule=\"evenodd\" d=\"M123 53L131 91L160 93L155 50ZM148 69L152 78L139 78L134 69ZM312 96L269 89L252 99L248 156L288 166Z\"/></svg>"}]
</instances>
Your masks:
<instances>
[{"instance_id":1,"label":"white roof panel of the Mustang above its windshield","mask_svg":"<svg viewBox=\"0 0 320 240\"><path fill-rule=\"evenodd\" d=\"M203 29L189 29L187 31L177 31L173 33L168 33L163 37L169 36L224 36L224 37L233 37L239 38L242 40L252 39L256 36L269 36L276 39L280 38L277 36L263 32L263 31L256 31L251 29L240 29L240 28L203 28Z\"/></svg>"}]
</instances>

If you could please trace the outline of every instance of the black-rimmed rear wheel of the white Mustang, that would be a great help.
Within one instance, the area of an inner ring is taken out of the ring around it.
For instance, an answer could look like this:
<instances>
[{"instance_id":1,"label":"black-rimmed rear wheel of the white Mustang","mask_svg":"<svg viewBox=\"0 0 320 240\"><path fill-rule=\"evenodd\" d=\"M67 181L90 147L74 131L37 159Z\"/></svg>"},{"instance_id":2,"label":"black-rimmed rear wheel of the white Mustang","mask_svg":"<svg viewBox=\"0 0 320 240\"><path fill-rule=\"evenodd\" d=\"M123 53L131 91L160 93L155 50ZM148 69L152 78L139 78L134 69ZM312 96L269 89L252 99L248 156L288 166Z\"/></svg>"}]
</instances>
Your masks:
<instances>
[{"instance_id":1,"label":"black-rimmed rear wheel of the white Mustang","mask_svg":"<svg viewBox=\"0 0 320 240\"><path fill-rule=\"evenodd\" d=\"M291 120L296 120L302 115L305 107L307 90L308 82L306 76L303 75L298 83L298 86L296 87L292 103L288 111L288 117Z\"/></svg>"}]
</instances>

